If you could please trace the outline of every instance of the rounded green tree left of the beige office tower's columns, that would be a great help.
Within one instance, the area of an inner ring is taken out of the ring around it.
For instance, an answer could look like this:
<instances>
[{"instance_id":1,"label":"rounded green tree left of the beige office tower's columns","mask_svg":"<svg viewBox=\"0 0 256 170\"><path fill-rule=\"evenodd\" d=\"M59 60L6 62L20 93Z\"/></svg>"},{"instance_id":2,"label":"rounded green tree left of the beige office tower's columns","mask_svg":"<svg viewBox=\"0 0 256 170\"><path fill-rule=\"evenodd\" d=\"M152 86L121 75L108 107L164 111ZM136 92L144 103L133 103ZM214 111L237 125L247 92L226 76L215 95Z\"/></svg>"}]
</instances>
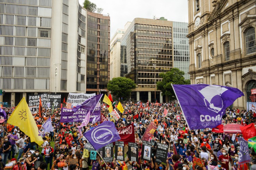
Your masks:
<instances>
[{"instance_id":1,"label":"rounded green tree left of the beige office tower's columns","mask_svg":"<svg viewBox=\"0 0 256 170\"><path fill-rule=\"evenodd\" d=\"M108 83L108 90L111 94L120 99L123 97L124 100L129 99L131 90L135 87L134 81L125 77L113 78Z\"/></svg>"}]
</instances>

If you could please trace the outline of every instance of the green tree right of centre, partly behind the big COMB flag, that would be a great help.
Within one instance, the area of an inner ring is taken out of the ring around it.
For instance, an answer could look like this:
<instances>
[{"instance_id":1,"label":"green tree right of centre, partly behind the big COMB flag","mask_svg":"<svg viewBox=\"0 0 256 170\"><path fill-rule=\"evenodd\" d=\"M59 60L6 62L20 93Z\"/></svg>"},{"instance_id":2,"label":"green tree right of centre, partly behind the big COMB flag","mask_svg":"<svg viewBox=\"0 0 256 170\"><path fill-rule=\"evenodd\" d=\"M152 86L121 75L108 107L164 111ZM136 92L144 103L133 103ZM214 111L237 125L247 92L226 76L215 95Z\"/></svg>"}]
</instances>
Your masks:
<instances>
[{"instance_id":1,"label":"green tree right of centre, partly behind the big COMB flag","mask_svg":"<svg viewBox=\"0 0 256 170\"><path fill-rule=\"evenodd\" d=\"M162 91L162 95L166 95L168 99L175 99L175 94L171 84L190 84L190 80L185 80L184 71L178 68L172 68L170 71L160 73L161 82L157 82L157 90Z\"/></svg>"}]
</instances>

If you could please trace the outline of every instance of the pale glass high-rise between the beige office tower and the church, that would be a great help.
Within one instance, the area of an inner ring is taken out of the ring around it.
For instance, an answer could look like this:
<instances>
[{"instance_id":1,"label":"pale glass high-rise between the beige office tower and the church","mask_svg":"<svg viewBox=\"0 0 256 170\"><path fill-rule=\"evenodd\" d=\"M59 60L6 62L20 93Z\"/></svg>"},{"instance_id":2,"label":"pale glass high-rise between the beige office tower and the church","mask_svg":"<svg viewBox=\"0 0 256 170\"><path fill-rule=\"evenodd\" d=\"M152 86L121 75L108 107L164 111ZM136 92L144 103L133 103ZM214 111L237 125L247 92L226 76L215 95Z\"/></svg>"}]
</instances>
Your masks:
<instances>
[{"instance_id":1,"label":"pale glass high-rise between the beige office tower and the church","mask_svg":"<svg viewBox=\"0 0 256 170\"><path fill-rule=\"evenodd\" d=\"M173 67L179 68L185 72L185 79L189 79L189 45L188 38L188 23L172 22L173 23Z\"/></svg>"}]
</instances>

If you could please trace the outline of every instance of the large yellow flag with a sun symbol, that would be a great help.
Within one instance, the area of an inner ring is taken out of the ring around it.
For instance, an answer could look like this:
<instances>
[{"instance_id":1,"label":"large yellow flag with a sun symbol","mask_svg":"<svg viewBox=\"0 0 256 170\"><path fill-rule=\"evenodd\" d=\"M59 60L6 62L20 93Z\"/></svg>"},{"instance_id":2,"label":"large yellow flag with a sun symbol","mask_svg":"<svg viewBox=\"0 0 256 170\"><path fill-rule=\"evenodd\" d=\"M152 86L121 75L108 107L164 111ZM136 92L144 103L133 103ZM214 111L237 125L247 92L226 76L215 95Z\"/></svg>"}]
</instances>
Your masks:
<instances>
[{"instance_id":1,"label":"large yellow flag with a sun symbol","mask_svg":"<svg viewBox=\"0 0 256 170\"><path fill-rule=\"evenodd\" d=\"M38 145L43 143L42 136L39 133L25 97L22 98L18 106L14 109L7 123L18 126L22 132L30 137L31 142L36 142Z\"/></svg>"}]
</instances>

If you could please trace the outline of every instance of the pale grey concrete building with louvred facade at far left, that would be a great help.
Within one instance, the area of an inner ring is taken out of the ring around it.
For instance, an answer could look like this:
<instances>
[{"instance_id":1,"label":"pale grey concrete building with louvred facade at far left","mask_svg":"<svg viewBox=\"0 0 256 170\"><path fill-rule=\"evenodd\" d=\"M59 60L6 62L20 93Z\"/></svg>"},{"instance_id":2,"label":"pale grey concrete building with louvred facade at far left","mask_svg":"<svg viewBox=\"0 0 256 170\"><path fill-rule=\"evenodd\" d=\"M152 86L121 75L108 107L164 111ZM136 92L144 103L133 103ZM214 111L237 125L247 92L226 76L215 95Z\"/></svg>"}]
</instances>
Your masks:
<instances>
[{"instance_id":1,"label":"pale grey concrete building with louvred facade at far left","mask_svg":"<svg viewBox=\"0 0 256 170\"><path fill-rule=\"evenodd\" d=\"M87 16L78 0L2 0L0 9L0 105L85 92Z\"/></svg>"}]
</instances>

